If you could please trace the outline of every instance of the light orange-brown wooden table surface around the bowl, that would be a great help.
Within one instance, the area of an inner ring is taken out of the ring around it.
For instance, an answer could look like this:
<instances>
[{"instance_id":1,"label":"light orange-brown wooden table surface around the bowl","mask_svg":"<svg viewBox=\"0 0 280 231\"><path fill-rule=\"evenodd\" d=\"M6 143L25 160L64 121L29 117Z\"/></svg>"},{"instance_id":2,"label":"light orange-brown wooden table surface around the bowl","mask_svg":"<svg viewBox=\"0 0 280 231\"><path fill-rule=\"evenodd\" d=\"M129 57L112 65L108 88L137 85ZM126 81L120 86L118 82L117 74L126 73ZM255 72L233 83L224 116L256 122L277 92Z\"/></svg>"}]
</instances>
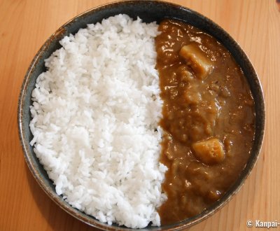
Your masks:
<instances>
[{"instance_id":1,"label":"light orange-brown wooden table surface around the bowl","mask_svg":"<svg viewBox=\"0 0 280 231\"><path fill-rule=\"evenodd\" d=\"M0 0L0 230L94 230L52 202L29 172L18 137L18 97L36 51L60 25L99 0ZM280 12L274 0L173 0L221 25L244 48L265 92L262 153L239 193L190 230L252 230L280 222ZM280 227L279 227L280 228ZM262 230L262 229L260 229Z\"/></svg>"}]
</instances>

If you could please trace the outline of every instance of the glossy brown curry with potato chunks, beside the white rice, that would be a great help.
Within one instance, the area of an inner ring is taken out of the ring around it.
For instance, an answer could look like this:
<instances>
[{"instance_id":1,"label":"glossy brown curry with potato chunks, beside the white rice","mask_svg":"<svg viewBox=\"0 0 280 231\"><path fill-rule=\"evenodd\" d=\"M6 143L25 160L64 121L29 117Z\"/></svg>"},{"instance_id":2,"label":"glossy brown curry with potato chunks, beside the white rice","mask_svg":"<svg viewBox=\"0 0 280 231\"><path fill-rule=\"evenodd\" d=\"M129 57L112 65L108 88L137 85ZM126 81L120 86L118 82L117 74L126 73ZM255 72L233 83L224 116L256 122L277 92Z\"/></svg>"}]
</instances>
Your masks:
<instances>
[{"instance_id":1,"label":"glossy brown curry with potato chunks, beside the white rice","mask_svg":"<svg viewBox=\"0 0 280 231\"><path fill-rule=\"evenodd\" d=\"M159 31L168 199L158 212L166 225L200 214L235 183L250 155L255 109L244 74L215 38L176 20Z\"/></svg>"}]
</instances>

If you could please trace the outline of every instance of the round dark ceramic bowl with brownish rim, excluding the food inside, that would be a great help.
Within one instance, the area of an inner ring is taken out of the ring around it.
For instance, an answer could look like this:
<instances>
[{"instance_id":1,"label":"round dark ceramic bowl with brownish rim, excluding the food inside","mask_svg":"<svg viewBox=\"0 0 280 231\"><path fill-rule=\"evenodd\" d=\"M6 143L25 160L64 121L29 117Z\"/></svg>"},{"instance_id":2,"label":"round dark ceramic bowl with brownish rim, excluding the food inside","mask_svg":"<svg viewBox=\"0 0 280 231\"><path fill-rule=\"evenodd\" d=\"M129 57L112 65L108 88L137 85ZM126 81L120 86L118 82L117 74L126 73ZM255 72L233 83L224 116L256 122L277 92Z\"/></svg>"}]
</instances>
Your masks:
<instances>
[{"instance_id":1,"label":"round dark ceramic bowl with brownish rim, excluding the food inside","mask_svg":"<svg viewBox=\"0 0 280 231\"><path fill-rule=\"evenodd\" d=\"M38 181L41 188L43 188L45 193L47 193L48 196L66 212L78 218L80 221L83 221L96 228L103 230L129 230L125 227L119 227L118 225L106 225L104 223L100 223L92 216L88 216L87 214L74 209L68 203L66 203L61 196L58 196L55 193L55 186L48 178L43 166L36 158L33 148L29 145L29 142L32 139L32 134L29 129L29 123L31 120L31 114L29 112L29 106L31 105L31 92L34 89L36 78L40 73L45 71L44 59L49 57L52 52L61 47L61 45L59 45L59 40L62 37L69 35L70 33L76 34L78 29L86 27L86 25L89 23L100 22L104 18L109 18L110 16L117 15L119 13L125 13L134 19L139 16L144 20L144 22L160 22L164 18L175 18L178 20L183 20L190 25L206 31L208 34L211 34L211 36L214 36L218 41L223 43L225 48L228 48L236 62L239 64L239 66L241 66L241 69L244 71L244 74L251 87L251 92L255 100L256 120L253 149L246 167L241 172L241 175L239 176L239 179L237 179L235 185L232 186L232 188L230 188L230 190L228 190L228 192L225 193L221 200L218 200L216 204L213 204L211 207L205 211L202 211L201 214L193 218L188 218L185 221L176 223L174 225L162 226L159 228L148 226L146 228L146 230L183 229L211 216L215 211L223 207L223 205L225 205L232 198L232 196L235 195L235 193L237 193L248 174L250 174L253 166L255 165L255 161L258 159L265 129L265 105L262 95L262 87L251 62L244 51L241 50L237 42L226 31L224 31L221 27L216 25L208 18L200 15L200 13L196 13L195 11L188 8L183 8L181 6L162 1L121 1L88 10L87 12L78 15L76 18L73 18L65 25L57 29L55 34L52 34L52 36L48 38L41 49L37 52L29 66L25 80L22 84L18 107L18 125L20 130L20 140L25 153L25 159L29 169L34 175L36 181Z\"/></svg>"}]
</instances>

